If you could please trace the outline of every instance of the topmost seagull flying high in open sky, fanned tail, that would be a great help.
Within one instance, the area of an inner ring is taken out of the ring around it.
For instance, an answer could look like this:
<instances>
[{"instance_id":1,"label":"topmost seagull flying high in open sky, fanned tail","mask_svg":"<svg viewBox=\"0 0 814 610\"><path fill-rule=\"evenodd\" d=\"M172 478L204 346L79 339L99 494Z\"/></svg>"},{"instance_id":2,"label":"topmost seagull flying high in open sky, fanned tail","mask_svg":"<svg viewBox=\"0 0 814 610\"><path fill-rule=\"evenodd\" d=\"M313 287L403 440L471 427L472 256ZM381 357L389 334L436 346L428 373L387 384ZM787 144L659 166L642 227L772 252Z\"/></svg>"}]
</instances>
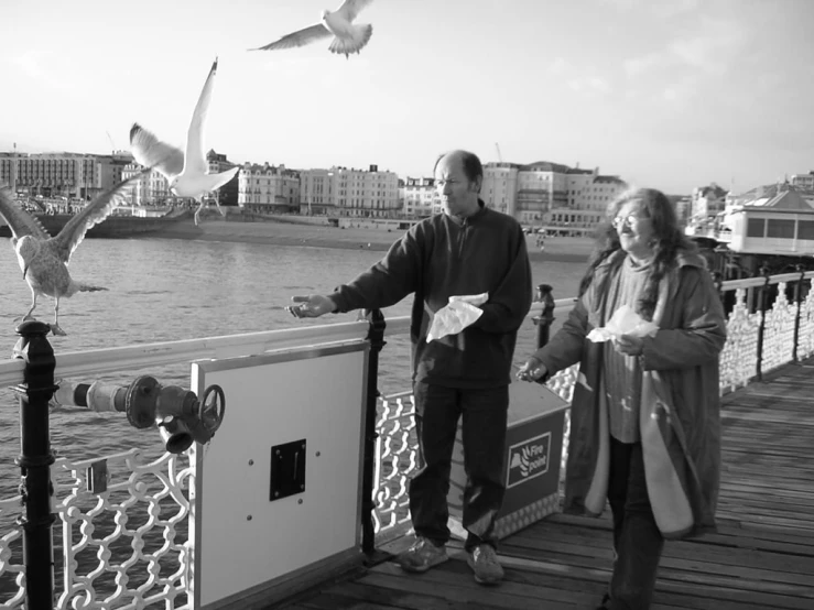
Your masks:
<instances>
[{"instance_id":1,"label":"topmost seagull flying high in open sky, fanned tail","mask_svg":"<svg viewBox=\"0 0 814 610\"><path fill-rule=\"evenodd\" d=\"M274 51L276 48L305 46L314 41L327 39L333 35L334 40L330 42L328 50L332 53L344 53L345 58L348 58L348 54L359 53L368 44L373 33L373 26L369 23L360 23L359 25L354 25L352 23L359 11L372 1L345 0L337 11L333 13L327 10L323 11L322 23L292 32L279 41L274 41L259 48L250 48L249 51Z\"/></svg>"}]
</instances>

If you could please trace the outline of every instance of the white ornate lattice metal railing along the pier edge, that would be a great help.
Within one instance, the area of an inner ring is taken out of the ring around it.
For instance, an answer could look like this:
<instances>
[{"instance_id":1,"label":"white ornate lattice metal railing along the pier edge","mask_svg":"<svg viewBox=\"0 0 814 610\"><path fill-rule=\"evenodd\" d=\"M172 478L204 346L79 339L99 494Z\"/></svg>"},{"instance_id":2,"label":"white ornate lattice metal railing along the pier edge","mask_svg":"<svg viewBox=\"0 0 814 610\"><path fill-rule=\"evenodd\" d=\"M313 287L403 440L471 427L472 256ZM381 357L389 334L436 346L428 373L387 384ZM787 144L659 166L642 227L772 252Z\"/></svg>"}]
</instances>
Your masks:
<instances>
[{"instance_id":1,"label":"white ornate lattice metal railing along the pier edge","mask_svg":"<svg viewBox=\"0 0 814 610\"><path fill-rule=\"evenodd\" d=\"M804 274L808 281L812 276L814 272ZM779 295L764 315L763 371L792 359L797 317L796 356L803 359L814 353L814 291L808 292L799 312L797 304L785 296L788 282L800 279L800 273L769 279L769 284L779 285ZM728 318L729 336L721 353L721 393L748 384L758 372L761 313L753 308L755 291L766 284L766 279L756 277L723 285L725 291L735 291L736 304ZM573 303L574 298L556 301L555 314L565 315ZM329 345L365 337L368 328L366 322L351 322L66 352L56 356L55 377L98 375L202 359L284 351L316 344ZM403 336L409 328L408 317L389 319L386 338ZM0 388L22 383L22 360L0 363ZM571 401L575 380L576 367L572 367L557 373L549 385ZM380 401L375 479L378 504L375 522L379 540L398 532L409 520L406 481L417 467L412 413L409 391ZM566 451L567 445L563 460ZM107 491L102 492L94 491L91 482L94 465L100 461L106 462L108 471ZM55 480L53 510L62 524L62 536L55 546L61 549L63 559L57 559L57 567L62 564L63 569L57 608L192 607L186 598L189 580L194 577L191 559L194 548L187 540L189 523L194 519L189 509L194 471L189 464L189 456L164 454L158 459L145 459L138 450L102 459L72 462L61 458L56 461L52 467ZM20 495L0 500L0 522L11 525L10 518L19 515L20 509ZM100 521L109 527L95 531ZM22 607L24 588L21 532L11 525L7 532L0 532L0 604L3 608Z\"/></svg>"}]
</instances>

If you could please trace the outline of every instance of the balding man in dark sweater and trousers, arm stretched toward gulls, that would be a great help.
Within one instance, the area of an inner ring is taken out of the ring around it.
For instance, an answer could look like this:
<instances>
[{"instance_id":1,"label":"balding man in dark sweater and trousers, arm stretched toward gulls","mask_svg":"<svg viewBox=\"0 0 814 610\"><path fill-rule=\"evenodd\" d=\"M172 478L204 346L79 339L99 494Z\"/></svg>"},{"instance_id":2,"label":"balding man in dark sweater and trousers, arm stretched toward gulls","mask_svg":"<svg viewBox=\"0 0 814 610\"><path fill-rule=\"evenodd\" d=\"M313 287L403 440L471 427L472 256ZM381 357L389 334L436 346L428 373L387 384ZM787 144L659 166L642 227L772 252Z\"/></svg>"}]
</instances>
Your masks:
<instances>
[{"instance_id":1,"label":"balding man in dark sweater and trousers, arm stretched toward gulls","mask_svg":"<svg viewBox=\"0 0 814 610\"><path fill-rule=\"evenodd\" d=\"M413 396L421 469L410 481L415 543L399 556L422 573L448 559L446 495L455 433L463 415L467 482L463 525L475 580L503 577L495 519L503 499L509 383L517 331L531 306L525 236L511 217L479 198L484 170L466 151L442 155L435 181L444 211L414 225L370 270L332 295L294 296L296 317L381 308L415 293L411 320ZM451 296L488 294L478 319L427 342Z\"/></svg>"}]
</instances>

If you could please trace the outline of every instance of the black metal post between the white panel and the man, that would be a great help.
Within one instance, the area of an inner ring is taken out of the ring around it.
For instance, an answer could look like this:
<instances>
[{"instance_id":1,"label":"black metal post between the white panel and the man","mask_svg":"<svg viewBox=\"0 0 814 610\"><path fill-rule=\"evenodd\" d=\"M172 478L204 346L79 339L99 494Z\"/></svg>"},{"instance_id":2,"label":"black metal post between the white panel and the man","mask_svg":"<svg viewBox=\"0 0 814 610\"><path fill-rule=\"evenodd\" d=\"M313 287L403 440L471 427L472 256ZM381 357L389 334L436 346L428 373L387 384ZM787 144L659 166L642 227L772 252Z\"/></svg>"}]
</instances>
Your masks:
<instances>
[{"instance_id":1,"label":"black metal post between the white panel and the man","mask_svg":"<svg viewBox=\"0 0 814 610\"><path fill-rule=\"evenodd\" d=\"M380 309L368 314L370 329L367 340L370 341L368 357L368 404L365 412L365 461L361 476L361 549L366 554L376 551L376 531L373 527L373 473L376 471L376 411L379 397L379 352L384 347L384 316Z\"/></svg>"}]
</instances>

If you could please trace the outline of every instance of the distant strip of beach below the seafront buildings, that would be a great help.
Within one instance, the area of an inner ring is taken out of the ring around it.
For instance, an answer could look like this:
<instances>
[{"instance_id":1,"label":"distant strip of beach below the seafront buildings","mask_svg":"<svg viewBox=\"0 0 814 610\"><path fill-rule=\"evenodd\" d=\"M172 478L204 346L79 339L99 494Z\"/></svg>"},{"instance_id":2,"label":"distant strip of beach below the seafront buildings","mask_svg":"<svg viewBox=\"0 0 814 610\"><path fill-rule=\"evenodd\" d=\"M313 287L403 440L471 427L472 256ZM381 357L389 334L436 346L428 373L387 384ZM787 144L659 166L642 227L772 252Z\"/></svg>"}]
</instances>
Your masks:
<instances>
[{"instance_id":1,"label":"distant strip of beach below the seafront buildings","mask_svg":"<svg viewBox=\"0 0 814 610\"><path fill-rule=\"evenodd\" d=\"M203 219L197 227L192 220L175 222L144 237L273 246L306 246L312 248L367 249L384 252L403 232L395 229L340 229L325 225L305 225L293 221L252 222L209 218ZM587 260L593 246L593 241L586 238L549 237L545 239L544 252L540 252L535 239L536 236L528 237L529 255L533 260L540 261L584 262Z\"/></svg>"}]
</instances>

